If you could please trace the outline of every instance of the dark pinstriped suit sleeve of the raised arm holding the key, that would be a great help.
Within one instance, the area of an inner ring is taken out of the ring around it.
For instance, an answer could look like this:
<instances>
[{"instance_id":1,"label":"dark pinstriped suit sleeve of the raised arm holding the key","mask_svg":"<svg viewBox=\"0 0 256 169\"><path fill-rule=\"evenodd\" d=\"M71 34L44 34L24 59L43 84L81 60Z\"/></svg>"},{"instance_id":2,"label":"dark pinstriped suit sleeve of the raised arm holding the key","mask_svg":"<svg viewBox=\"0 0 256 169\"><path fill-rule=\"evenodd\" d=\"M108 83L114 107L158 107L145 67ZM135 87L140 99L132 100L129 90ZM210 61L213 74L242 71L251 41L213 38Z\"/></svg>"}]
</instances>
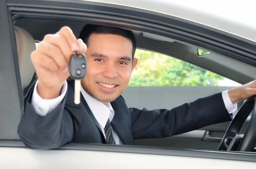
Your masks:
<instances>
[{"instance_id":1,"label":"dark pinstriped suit sleeve of the raised arm holding the key","mask_svg":"<svg viewBox=\"0 0 256 169\"><path fill-rule=\"evenodd\" d=\"M17 130L20 139L30 149L54 149L67 144L79 130L79 121L76 119L81 118L70 113L66 107L68 93L54 110L42 116L36 113L31 104L34 87L35 82L24 97L24 107ZM73 110L76 108L79 108L79 105L73 107Z\"/></svg>"}]
</instances>

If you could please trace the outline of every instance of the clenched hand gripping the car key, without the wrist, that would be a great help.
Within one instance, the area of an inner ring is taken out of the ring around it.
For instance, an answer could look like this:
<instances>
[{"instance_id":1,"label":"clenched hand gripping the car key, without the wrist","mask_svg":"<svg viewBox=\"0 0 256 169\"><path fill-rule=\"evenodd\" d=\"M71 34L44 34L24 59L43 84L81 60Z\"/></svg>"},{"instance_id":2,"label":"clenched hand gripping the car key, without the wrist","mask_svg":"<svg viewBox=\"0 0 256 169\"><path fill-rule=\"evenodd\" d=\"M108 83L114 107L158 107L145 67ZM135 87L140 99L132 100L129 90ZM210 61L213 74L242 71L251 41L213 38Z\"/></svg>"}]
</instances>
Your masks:
<instances>
[{"instance_id":1,"label":"clenched hand gripping the car key, without the wrist","mask_svg":"<svg viewBox=\"0 0 256 169\"><path fill-rule=\"evenodd\" d=\"M85 53L87 45L76 39L73 31L64 26L56 34L47 34L31 54L35 67L45 67L51 71L66 72L73 52Z\"/></svg>"}]
</instances>

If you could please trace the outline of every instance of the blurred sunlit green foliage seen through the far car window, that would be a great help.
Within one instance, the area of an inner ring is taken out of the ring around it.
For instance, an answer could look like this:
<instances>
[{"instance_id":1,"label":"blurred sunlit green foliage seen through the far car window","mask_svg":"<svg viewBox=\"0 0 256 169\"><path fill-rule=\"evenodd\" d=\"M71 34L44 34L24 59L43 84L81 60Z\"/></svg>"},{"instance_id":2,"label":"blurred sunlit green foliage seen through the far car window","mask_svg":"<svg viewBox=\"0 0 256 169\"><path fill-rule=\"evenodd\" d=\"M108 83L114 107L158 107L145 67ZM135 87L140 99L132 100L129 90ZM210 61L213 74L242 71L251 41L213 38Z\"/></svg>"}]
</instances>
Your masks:
<instances>
[{"instance_id":1,"label":"blurred sunlit green foliage seen through the far car window","mask_svg":"<svg viewBox=\"0 0 256 169\"><path fill-rule=\"evenodd\" d=\"M136 50L138 64L129 86L216 86L224 77L187 62L151 51Z\"/></svg>"}]
</instances>

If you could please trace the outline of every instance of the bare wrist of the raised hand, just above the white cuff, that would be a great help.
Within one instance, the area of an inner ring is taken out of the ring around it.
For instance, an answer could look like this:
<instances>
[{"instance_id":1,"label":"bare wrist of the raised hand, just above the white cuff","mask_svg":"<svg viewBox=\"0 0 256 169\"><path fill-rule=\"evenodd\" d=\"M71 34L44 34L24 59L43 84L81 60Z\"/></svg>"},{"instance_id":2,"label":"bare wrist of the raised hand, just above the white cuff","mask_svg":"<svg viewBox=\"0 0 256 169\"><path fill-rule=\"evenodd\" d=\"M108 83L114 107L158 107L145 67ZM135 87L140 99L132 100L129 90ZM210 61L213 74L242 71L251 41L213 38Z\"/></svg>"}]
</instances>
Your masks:
<instances>
[{"instance_id":1,"label":"bare wrist of the raised hand, just above the white cuff","mask_svg":"<svg viewBox=\"0 0 256 169\"><path fill-rule=\"evenodd\" d=\"M61 93L61 88L63 84L61 85L55 85L54 87L46 87L44 84L38 80L37 85L37 93L42 99L55 99L57 98Z\"/></svg>"}]
</instances>

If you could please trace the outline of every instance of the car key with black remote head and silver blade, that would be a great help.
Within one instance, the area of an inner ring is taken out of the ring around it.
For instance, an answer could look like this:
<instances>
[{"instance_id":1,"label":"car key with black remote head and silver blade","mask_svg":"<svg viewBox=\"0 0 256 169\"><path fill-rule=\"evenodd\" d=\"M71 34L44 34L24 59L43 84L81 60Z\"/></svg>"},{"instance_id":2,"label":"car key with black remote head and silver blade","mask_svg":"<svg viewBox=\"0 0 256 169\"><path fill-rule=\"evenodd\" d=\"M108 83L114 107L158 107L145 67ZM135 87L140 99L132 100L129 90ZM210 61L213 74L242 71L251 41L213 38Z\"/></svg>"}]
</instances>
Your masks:
<instances>
[{"instance_id":1,"label":"car key with black remote head and silver blade","mask_svg":"<svg viewBox=\"0 0 256 169\"><path fill-rule=\"evenodd\" d=\"M81 56L81 57L80 57ZM75 80L75 104L80 103L80 86L81 79L84 78L86 74L86 57L84 54L80 53L80 44L79 51L73 53L70 58L70 77Z\"/></svg>"}]
</instances>

